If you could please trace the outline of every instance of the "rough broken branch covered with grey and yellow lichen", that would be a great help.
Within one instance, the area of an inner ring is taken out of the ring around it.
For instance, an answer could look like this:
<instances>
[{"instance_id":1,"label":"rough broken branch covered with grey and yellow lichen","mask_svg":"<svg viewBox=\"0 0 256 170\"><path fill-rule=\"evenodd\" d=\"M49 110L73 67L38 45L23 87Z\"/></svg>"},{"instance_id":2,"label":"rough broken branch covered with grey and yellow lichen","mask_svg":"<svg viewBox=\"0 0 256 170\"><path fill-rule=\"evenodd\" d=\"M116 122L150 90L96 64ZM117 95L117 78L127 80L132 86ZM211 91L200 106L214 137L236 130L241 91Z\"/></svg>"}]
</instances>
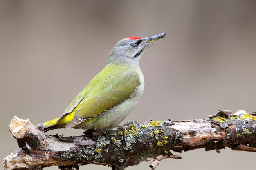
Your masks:
<instances>
[{"instance_id":1,"label":"rough broken branch covered with grey and yellow lichen","mask_svg":"<svg viewBox=\"0 0 256 170\"><path fill-rule=\"evenodd\" d=\"M48 166L78 169L93 163L123 170L153 158L155 169L165 158L181 159L171 154L198 148L256 152L256 114L238 111L234 115L220 110L209 119L189 121L129 122L122 128L88 132L83 136L45 135L41 126L14 117L9 130L20 150L13 151L3 163L5 170L36 170Z\"/></svg>"}]
</instances>

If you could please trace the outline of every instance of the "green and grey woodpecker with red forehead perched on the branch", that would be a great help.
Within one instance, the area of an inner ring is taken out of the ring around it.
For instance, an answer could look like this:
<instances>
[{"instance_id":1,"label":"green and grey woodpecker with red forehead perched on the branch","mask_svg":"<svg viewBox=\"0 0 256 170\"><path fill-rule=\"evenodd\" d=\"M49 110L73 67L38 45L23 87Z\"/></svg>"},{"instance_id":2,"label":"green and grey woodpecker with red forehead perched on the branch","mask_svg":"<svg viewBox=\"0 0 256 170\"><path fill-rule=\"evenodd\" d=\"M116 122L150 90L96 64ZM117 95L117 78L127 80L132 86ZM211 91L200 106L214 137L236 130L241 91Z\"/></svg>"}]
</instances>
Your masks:
<instances>
[{"instance_id":1,"label":"green and grey woodpecker with red forehead perched on the branch","mask_svg":"<svg viewBox=\"0 0 256 170\"><path fill-rule=\"evenodd\" d=\"M58 118L43 124L44 131L57 128L108 130L117 127L132 111L144 90L139 60L152 37L126 37L110 51L107 64Z\"/></svg>"}]
</instances>

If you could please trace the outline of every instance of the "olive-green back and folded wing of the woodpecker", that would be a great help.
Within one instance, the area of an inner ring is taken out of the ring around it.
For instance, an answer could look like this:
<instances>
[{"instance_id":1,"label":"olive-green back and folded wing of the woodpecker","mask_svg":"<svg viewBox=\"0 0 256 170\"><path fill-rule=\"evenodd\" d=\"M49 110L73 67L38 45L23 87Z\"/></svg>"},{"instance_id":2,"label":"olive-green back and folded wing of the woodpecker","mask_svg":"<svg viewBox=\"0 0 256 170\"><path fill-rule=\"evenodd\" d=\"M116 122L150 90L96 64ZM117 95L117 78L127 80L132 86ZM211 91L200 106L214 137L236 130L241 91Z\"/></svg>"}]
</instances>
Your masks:
<instances>
[{"instance_id":1,"label":"olive-green back and folded wing of the woodpecker","mask_svg":"<svg viewBox=\"0 0 256 170\"><path fill-rule=\"evenodd\" d=\"M139 75L136 71L123 66L106 66L63 113L74 114L74 119L70 120L65 129L91 119L126 100L139 84Z\"/></svg>"}]
</instances>

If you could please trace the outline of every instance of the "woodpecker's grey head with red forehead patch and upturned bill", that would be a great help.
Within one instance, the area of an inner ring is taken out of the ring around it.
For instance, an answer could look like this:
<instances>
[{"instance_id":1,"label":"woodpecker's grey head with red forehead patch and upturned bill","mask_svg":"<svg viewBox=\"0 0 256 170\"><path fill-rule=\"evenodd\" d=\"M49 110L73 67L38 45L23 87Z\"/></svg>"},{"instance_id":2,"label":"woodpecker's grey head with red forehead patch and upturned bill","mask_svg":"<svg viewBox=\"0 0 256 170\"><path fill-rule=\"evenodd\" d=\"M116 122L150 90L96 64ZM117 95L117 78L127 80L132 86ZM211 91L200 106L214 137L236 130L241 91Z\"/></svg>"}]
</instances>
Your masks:
<instances>
[{"instance_id":1,"label":"woodpecker's grey head with red forehead patch and upturned bill","mask_svg":"<svg viewBox=\"0 0 256 170\"><path fill-rule=\"evenodd\" d=\"M107 64L139 65L139 59L146 48L165 35L166 33L144 38L126 37L117 42L113 47L109 54Z\"/></svg>"}]
</instances>

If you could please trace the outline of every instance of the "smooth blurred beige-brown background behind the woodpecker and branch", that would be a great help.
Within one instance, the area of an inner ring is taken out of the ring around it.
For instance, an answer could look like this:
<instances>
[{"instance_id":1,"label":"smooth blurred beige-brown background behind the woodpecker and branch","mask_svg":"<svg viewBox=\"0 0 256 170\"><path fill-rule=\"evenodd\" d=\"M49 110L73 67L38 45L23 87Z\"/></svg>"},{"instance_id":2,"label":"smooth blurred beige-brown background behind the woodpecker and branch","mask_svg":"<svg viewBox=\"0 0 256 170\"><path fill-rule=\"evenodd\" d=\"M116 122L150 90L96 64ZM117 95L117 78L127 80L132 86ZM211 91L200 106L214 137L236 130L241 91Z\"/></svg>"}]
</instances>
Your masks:
<instances>
[{"instance_id":1,"label":"smooth blurred beige-brown background behind the woodpecker and branch","mask_svg":"<svg viewBox=\"0 0 256 170\"><path fill-rule=\"evenodd\" d=\"M256 1L0 1L0 158L18 145L14 115L38 124L58 117L127 36L165 38L141 59L145 90L123 123L207 118L219 109L255 111ZM81 135L82 130L48 134ZM229 148L179 154L158 170L255 169L255 153ZM149 163L127 168L150 169ZM110 169L81 166L85 169ZM46 168L57 170L57 167Z\"/></svg>"}]
</instances>

